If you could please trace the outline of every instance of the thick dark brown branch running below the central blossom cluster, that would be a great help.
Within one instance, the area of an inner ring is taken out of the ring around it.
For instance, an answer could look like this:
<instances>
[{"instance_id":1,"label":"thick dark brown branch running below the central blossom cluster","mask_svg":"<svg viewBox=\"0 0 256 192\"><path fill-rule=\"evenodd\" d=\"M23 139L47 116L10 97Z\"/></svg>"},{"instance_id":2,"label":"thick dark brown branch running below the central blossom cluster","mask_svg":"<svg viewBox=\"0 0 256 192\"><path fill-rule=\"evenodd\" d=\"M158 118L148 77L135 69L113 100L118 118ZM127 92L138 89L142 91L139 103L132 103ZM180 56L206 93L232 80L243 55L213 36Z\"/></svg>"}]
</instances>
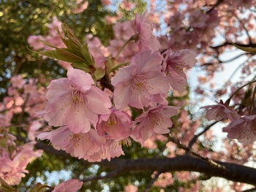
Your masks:
<instances>
[{"instance_id":1,"label":"thick dark brown branch running below the central blossom cluster","mask_svg":"<svg viewBox=\"0 0 256 192\"><path fill-rule=\"evenodd\" d=\"M22 137L23 138L23 137ZM18 137L20 140L21 138ZM23 138L24 139L24 138ZM61 157L70 157L69 154L63 150L55 150L53 147L46 145L43 142L37 141L36 147L42 149L45 153L58 155ZM97 164L102 168L114 169L113 172L106 174L105 176L97 176L86 179L97 180L105 179L109 177L116 177L118 174L125 172L200 172L206 174L208 177L222 177L227 180L233 180L235 182L247 183L256 185L256 169L248 166L232 164L222 161L211 160L215 164L222 167L217 167L208 164L204 159L193 157L191 155L181 155L175 158L139 158L139 159L125 159L125 158L112 158L111 161L103 160L100 162L88 162L83 161L84 164Z\"/></svg>"}]
</instances>

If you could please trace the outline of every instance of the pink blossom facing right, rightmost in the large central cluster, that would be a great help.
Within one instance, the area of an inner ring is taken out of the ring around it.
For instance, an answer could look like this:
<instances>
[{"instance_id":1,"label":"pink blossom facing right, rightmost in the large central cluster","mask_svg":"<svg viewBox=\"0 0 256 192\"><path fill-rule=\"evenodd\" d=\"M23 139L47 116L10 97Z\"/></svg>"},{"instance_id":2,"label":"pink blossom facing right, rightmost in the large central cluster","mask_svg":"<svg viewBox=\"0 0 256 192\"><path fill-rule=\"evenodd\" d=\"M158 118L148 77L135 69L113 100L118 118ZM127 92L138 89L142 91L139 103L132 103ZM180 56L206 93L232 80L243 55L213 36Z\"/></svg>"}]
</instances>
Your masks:
<instances>
[{"instance_id":1,"label":"pink blossom facing right, rightmost in the large central cluster","mask_svg":"<svg viewBox=\"0 0 256 192\"><path fill-rule=\"evenodd\" d=\"M195 65L197 53L193 50L178 50L175 52L167 50L163 55L165 56L163 72L170 77L170 86L174 90L184 92L187 86L187 75L183 70Z\"/></svg>"}]
</instances>

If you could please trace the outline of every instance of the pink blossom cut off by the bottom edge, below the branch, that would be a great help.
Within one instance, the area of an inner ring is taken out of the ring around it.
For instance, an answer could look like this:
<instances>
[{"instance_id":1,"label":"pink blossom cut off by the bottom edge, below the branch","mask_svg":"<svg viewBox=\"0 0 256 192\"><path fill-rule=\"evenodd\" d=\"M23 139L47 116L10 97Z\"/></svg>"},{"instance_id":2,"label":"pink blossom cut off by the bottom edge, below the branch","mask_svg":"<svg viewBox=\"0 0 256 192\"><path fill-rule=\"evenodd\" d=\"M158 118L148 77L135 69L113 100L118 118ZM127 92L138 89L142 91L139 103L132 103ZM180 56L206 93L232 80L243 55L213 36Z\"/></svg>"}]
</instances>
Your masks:
<instances>
[{"instance_id":1,"label":"pink blossom cut off by the bottom edge, below the branch","mask_svg":"<svg viewBox=\"0 0 256 192\"><path fill-rule=\"evenodd\" d=\"M52 192L75 192L78 191L83 185L83 182L79 180L67 180L53 189Z\"/></svg>"}]
</instances>

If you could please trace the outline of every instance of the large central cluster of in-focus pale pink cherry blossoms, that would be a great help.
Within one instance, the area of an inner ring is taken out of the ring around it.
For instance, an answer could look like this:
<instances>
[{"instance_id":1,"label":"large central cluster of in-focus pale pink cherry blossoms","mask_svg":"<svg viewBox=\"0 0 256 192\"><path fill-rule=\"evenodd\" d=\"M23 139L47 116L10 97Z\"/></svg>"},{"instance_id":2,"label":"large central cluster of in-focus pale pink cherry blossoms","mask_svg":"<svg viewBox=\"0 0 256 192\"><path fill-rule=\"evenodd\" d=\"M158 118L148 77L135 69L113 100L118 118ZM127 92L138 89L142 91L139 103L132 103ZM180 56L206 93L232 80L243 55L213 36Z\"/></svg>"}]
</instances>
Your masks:
<instances>
[{"instance_id":1,"label":"large central cluster of in-focus pale pink cherry blossoms","mask_svg":"<svg viewBox=\"0 0 256 192\"><path fill-rule=\"evenodd\" d=\"M38 115L53 130L37 134L38 139L49 139L57 150L77 158L101 161L124 155L121 145L131 145L131 138L143 146L148 138L170 132L170 117L180 107L168 105L167 93L170 89L185 90L184 69L195 65L197 54L193 50L160 53L153 23L146 13L137 15L133 22L114 26L113 41L119 45L128 42L129 48L124 47L122 52L115 52L111 42L101 49L99 40L86 40L96 69L107 69L106 53L118 62L129 61L117 72L110 70L113 93L96 82L89 71L69 67L67 77L52 80L48 85L47 104ZM132 120L134 110L140 112Z\"/></svg>"}]
</instances>

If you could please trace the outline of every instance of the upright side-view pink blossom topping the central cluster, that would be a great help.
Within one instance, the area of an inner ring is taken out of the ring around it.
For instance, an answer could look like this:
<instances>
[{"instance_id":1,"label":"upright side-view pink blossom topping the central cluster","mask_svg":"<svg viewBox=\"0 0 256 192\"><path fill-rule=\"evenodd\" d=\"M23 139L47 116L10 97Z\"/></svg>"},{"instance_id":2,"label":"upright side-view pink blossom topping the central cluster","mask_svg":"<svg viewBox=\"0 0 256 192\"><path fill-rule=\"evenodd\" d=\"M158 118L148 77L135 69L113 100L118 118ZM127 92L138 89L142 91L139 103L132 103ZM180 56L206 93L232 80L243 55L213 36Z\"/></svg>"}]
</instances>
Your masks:
<instances>
[{"instance_id":1,"label":"upright side-view pink blossom topping the central cluster","mask_svg":"<svg viewBox=\"0 0 256 192\"><path fill-rule=\"evenodd\" d=\"M135 16L135 25L138 31L139 47L144 49L151 49L153 51L159 50L160 44L157 37L153 35L153 23L146 18L147 12L144 12L141 17Z\"/></svg>"}]
</instances>

